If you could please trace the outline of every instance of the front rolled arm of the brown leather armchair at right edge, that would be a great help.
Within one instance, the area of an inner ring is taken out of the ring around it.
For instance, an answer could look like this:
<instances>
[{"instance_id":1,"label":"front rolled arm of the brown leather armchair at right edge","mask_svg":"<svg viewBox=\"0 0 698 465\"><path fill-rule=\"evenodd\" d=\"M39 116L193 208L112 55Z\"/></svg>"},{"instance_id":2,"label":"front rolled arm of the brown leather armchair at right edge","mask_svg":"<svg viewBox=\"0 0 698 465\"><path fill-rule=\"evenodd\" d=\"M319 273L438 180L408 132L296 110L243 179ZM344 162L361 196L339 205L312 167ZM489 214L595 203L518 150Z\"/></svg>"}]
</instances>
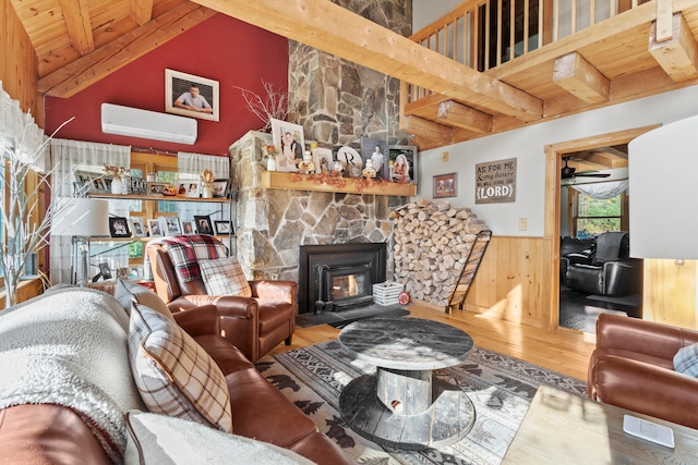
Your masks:
<instances>
[{"instance_id":1,"label":"front rolled arm of the brown leather armchair at right edge","mask_svg":"<svg viewBox=\"0 0 698 465\"><path fill-rule=\"evenodd\" d=\"M603 354L589 365L588 383L592 400L698 428L696 378Z\"/></svg>"}]
</instances>

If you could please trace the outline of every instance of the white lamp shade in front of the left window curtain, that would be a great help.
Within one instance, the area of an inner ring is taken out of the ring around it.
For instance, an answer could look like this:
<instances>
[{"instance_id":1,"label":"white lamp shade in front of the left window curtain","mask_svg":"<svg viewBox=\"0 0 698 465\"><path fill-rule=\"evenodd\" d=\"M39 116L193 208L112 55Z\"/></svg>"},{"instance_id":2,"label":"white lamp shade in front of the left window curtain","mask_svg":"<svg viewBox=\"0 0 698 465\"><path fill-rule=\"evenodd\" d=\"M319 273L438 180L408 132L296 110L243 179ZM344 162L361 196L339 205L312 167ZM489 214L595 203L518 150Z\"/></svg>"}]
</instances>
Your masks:
<instances>
[{"instance_id":1,"label":"white lamp shade in front of the left window curtain","mask_svg":"<svg viewBox=\"0 0 698 465\"><path fill-rule=\"evenodd\" d=\"M59 198L51 220L51 234L103 236L109 234L109 200Z\"/></svg>"}]
</instances>

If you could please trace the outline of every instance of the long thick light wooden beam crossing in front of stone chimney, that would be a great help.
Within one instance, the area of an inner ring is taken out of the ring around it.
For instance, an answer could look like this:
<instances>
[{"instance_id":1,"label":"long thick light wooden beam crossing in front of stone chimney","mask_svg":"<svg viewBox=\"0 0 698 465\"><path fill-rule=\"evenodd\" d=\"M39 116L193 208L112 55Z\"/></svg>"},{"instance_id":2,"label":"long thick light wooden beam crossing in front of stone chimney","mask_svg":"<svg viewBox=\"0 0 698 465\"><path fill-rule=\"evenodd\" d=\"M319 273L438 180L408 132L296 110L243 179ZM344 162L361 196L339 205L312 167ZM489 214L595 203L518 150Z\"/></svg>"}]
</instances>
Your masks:
<instances>
[{"instance_id":1,"label":"long thick light wooden beam crossing in front of stone chimney","mask_svg":"<svg viewBox=\"0 0 698 465\"><path fill-rule=\"evenodd\" d=\"M374 71L525 122L540 99L493 79L327 0L192 0Z\"/></svg>"}]
</instances>

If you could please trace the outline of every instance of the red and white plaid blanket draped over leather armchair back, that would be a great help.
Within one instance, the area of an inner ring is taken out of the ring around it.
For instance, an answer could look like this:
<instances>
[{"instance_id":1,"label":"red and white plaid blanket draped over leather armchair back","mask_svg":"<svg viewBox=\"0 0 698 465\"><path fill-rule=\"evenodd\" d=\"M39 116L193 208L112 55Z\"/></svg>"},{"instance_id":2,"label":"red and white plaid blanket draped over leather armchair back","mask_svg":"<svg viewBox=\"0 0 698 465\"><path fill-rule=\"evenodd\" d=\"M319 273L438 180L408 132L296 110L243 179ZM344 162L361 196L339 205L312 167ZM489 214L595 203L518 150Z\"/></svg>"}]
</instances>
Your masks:
<instances>
[{"instance_id":1,"label":"red and white plaid blanket draped over leather armchair back","mask_svg":"<svg viewBox=\"0 0 698 465\"><path fill-rule=\"evenodd\" d=\"M210 260L228 256L228 247L210 235L174 235L163 240L181 282L201 279L198 260Z\"/></svg>"}]
</instances>

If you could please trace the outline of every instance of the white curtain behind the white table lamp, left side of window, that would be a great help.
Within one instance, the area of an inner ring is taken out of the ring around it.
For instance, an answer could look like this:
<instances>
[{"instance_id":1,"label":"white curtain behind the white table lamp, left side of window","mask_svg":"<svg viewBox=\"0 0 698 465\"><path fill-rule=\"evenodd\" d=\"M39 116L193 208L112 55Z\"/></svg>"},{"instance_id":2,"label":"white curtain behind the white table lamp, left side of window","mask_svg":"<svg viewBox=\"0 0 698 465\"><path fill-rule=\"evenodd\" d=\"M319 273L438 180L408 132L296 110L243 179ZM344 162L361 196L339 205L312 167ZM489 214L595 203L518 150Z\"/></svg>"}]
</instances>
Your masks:
<instances>
[{"instance_id":1,"label":"white curtain behind the white table lamp, left side of window","mask_svg":"<svg viewBox=\"0 0 698 465\"><path fill-rule=\"evenodd\" d=\"M131 147L111 144L98 144L81 140L51 139L51 166L53 167L52 195L71 197L73 195L73 172L75 170L101 173L106 164L131 167ZM129 200L109 203L109 213L129 217ZM70 236L51 235L51 283L71 282L72 243ZM129 260L128 247L121 247L115 259ZM94 264L93 260L89 261Z\"/></svg>"}]
</instances>

